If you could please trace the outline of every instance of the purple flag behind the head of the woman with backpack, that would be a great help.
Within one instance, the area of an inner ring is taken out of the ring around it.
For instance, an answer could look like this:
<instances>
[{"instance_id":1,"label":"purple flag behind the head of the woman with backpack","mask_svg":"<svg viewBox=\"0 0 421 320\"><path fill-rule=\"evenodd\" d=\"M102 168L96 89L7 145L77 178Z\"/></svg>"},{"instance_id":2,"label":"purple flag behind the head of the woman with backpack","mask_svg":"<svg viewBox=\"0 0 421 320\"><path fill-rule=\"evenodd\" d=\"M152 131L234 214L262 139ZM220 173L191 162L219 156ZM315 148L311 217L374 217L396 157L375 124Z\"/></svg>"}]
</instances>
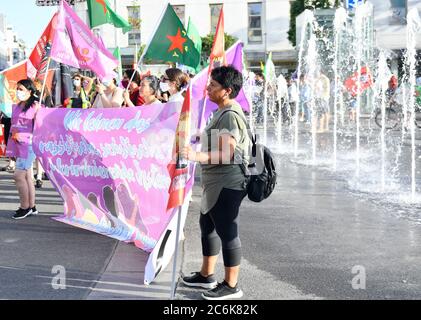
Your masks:
<instances>
[{"instance_id":1,"label":"purple flag behind the head of the woman with backpack","mask_svg":"<svg viewBox=\"0 0 421 320\"><path fill-rule=\"evenodd\" d=\"M237 42L229 48L226 52L226 57L228 65L232 65L241 73L243 72L243 44L241 42ZM210 114L218 109L215 103L206 99L206 109L203 112L203 93L205 92L208 81L208 68L203 69L192 81L192 118L196 119L197 122L195 123L197 123L199 130L202 129L202 125L206 123L206 119L209 118ZM250 111L250 102L243 89L241 89L235 100L241 105L244 111ZM201 115L203 115L203 118Z\"/></svg>"}]
</instances>

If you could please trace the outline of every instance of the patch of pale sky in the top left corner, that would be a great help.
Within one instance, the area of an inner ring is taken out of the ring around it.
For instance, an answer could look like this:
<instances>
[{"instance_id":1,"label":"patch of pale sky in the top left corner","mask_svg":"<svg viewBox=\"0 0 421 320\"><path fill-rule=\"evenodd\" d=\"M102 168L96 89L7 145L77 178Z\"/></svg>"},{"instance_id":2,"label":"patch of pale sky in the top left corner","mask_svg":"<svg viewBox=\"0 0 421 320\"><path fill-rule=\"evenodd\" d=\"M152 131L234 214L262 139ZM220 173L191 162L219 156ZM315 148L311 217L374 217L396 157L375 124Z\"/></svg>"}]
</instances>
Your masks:
<instances>
[{"instance_id":1,"label":"patch of pale sky in the top left corner","mask_svg":"<svg viewBox=\"0 0 421 320\"><path fill-rule=\"evenodd\" d=\"M13 26L27 48L35 46L57 9L38 7L35 0L0 0L0 13L6 15L7 24Z\"/></svg>"}]
</instances>

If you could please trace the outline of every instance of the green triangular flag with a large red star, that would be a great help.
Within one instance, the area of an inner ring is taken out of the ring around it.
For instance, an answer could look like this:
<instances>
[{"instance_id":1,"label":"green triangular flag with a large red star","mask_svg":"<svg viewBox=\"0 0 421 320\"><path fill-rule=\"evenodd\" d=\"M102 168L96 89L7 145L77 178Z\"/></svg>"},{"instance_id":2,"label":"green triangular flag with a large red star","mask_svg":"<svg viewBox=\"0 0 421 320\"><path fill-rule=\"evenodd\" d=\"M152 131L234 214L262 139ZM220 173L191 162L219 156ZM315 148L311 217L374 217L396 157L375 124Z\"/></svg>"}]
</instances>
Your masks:
<instances>
[{"instance_id":1,"label":"green triangular flag with a large red star","mask_svg":"<svg viewBox=\"0 0 421 320\"><path fill-rule=\"evenodd\" d=\"M198 66L200 54L171 5L167 6L144 58L175 62L193 68Z\"/></svg>"}]
</instances>

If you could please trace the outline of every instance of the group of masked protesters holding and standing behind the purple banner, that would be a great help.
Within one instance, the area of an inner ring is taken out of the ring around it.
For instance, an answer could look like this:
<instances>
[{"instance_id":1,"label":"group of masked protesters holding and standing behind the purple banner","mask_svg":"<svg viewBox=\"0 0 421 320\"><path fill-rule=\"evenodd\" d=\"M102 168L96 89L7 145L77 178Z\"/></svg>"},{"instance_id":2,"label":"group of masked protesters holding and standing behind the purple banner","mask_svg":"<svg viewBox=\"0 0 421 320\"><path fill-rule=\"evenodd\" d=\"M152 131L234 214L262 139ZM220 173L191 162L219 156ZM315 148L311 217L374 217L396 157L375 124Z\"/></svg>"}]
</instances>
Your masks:
<instances>
[{"instance_id":1,"label":"group of masked protesters holding and standing behind the purple banner","mask_svg":"<svg viewBox=\"0 0 421 320\"><path fill-rule=\"evenodd\" d=\"M63 105L59 107L69 109L126 108L183 101L184 89L187 88L189 80L190 76L177 68L165 70L160 78L129 69L124 72L120 83L116 79L102 79L101 81L77 72L72 76L72 96L65 99ZM41 92L43 92L42 98L40 98ZM4 126L7 149L18 150L14 151L18 153L10 156L8 164L0 170L15 173L15 181L22 200L19 209L22 210L18 210L14 218L20 219L30 214L28 208L33 208L33 187L42 188L43 180L48 180L48 176L44 173L39 160L33 158L33 152L30 151L32 150L31 135L25 133L28 141L21 141L23 135L14 130L20 130L17 128L20 128L21 122L28 122L28 126L33 130L36 110L41 106L47 108L55 106L48 87L43 88L43 82L38 79L34 81L22 79L17 86L16 98L19 102L13 106L12 117L1 113L0 118ZM22 154L19 153L21 150L24 150ZM22 159L25 161L22 162ZM34 162L34 168L32 162ZM35 175L33 169L35 169ZM26 184L23 183L23 177L26 179ZM32 214L35 211L32 210Z\"/></svg>"}]
</instances>

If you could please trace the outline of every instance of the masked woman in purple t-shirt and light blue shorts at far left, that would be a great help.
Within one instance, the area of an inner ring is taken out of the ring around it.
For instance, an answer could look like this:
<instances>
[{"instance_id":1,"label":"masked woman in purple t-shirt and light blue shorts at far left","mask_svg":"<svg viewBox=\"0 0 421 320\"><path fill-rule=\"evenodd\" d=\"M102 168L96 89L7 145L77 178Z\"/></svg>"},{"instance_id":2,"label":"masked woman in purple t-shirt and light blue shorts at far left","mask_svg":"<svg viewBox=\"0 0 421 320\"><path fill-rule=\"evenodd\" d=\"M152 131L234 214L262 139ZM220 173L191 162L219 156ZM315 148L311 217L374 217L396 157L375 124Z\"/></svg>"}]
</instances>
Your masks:
<instances>
[{"instance_id":1,"label":"masked woman in purple t-shirt and light blue shorts at far left","mask_svg":"<svg viewBox=\"0 0 421 320\"><path fill-rule=\"evenodd\" d=\"M35 116L41 107L36 94L37 89L31 79L17 83L16 97L19 103L13 106L10 140L6 150L8 157L16 158L14 178L20 199L20 207L13 215L16 220L38 214L32 182L32 166L35 161L32 135Z\"/></svg>"}]
</instances>

